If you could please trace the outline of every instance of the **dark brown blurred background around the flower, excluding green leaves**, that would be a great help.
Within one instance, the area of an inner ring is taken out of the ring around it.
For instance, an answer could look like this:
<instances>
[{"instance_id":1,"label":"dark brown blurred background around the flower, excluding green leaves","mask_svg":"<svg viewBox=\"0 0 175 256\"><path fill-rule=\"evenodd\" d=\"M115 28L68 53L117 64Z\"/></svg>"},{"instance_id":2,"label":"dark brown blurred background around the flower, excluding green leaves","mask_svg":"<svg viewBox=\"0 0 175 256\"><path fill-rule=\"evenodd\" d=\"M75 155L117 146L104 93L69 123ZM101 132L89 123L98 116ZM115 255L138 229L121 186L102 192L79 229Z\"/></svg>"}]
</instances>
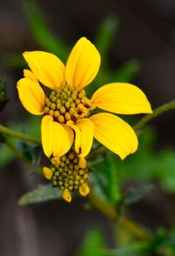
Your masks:
<instances>
[{"instance_id":1,"label":"dark brown blurred background around the flower, excluding green leaves","mask_svg":"<svg viewBox=\"0 0 175 256\"><path fill-rule=\"evenodd\" d=\"M104 20L116 20L116 33L108 55L110 69L117 70L126 62L134 62L136 72L133 71L130 83L144 90L153 108L174 99L174 0L43 0L36 3L52 34L69 46L81 36L94 42ZM1 113L1 123L18 122L21 130L30 114L19 103L16 89L23 73L20 55L25 50L45 50L45 42L41 46L33 36L26 6L25 1L0 1L0 77L6 79L7 95L11 99ZM165 147L174 148L174 117L173 112L165 113L152 121L156 131L152 157ZM27 165L10 158L8 165L2 165L0 170L0 255L77 255L86 231L95 226L102 230L106 245L114 245L112 224L99 212L86 210L84 199L76 198L71 206L64 201L49 201L18 207L18 198L44 181L36 174L29 176ZM130 213L148 229L170 228L175 216L174 195L162 189L158 180L154 182L154 191L133 204ZM133 184L132 179L123 187ZM173 185L175 187L172 180Z\"/></svg>"}]
</instances>

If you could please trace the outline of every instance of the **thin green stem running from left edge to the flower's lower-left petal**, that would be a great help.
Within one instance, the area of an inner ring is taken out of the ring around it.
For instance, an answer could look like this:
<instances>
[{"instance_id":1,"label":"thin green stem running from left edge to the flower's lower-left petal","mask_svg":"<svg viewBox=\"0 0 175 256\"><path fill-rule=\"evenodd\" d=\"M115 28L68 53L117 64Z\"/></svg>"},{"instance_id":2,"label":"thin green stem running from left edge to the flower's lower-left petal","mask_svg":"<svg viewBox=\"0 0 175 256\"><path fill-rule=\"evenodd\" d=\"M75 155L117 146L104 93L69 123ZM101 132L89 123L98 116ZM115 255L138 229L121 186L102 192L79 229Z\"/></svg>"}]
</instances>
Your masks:
<instances>
[{"instance_id":1,"label":"thin green stem running from left edge to the flower's lower-left petal","mask_svg":"<svg viewBox=\"0 0 175 256\"><path fill-rule=\"evenodd\" d=\"M25 135L25 134L20 133L20 132L16 132L16 131L12 130L11 128L4 127L3 125L0 125L0 132L5 134L5 135L11 135L11 136L14 136L18 139L22 139L22 140L25 140L25 141L28 141L28 142L31 142L31 143L36 143L36 144L40 143L40 140L38 140L38 138L35 138L33 136L30 136L30 135Z\"/></svg>"}]
</instances>

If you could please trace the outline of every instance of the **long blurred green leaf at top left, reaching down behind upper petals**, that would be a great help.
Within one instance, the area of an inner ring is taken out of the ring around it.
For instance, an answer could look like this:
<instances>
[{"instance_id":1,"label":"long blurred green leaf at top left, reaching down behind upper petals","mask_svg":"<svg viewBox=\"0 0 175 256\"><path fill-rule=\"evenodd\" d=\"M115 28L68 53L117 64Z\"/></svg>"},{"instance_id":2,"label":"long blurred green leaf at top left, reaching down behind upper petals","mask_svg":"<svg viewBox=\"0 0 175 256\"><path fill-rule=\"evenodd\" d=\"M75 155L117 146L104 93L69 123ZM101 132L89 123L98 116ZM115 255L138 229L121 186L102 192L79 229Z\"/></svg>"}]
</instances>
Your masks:
<instances>
[{"instance_id":1,"label":"long blurred green leaf at top left, reaching down behind upper petals","mask_svg":"<svg viewBox=\"0 0 175 256\"><path fill-rule=\"evenodd\" d=\"M59 37L52 34L45 22L45 18L38 10L36 2L33 0L25 0L24 10L29 25L31 26L31 33L33 34L34 39L38 42L38 45L46 51L58 55L62 61L66 62L69 47L67 47Z\"/></svg>"}]
</instances>

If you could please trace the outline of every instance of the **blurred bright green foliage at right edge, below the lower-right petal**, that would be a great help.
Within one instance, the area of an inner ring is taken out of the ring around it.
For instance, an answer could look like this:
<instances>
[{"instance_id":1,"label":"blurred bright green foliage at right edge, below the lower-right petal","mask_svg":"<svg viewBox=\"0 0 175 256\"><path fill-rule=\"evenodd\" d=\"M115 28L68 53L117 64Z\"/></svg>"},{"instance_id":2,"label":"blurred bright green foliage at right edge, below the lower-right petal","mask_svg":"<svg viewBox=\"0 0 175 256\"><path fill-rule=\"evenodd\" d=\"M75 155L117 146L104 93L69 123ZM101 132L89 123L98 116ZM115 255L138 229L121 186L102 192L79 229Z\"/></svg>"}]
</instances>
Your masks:
<instances>
[{"instance_id":1,"label":"blurred bright green foliage at right edge, below the lower-right petal","mask_svg":"<svg viewBox=\"0 0 175 256\"><path fill-rule=\"evenodd\" d=\"M154 151L156 141L155 131L151 128L144 129L139 135L139 147L134 155L118 162L120 179L151 181L158 180L167 192L175 192L175 150L163 149L157 154Z\"/></svg>"}]
</instances>

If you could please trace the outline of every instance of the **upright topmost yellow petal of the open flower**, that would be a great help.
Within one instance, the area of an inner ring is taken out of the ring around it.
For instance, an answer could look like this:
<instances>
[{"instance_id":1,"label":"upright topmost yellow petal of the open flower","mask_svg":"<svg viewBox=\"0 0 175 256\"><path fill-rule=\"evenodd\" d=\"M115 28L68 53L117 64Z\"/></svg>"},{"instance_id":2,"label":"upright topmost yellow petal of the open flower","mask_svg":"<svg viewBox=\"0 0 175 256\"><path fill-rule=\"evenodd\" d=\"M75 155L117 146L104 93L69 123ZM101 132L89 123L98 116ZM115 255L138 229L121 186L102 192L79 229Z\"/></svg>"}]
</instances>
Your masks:
<instances>
[{"instance_id":1,"label":"upright topmost yellow petal of the open flower","mask_svg":"<svg viewBox=\"0 0 175 256\"><path fill-rule=\"evenodd\" d=\"M73 87L90 84L100 68L101 56L95 46L82 37L77 41L66 62L66 82Z\"/></svg>"}]
</instances>

